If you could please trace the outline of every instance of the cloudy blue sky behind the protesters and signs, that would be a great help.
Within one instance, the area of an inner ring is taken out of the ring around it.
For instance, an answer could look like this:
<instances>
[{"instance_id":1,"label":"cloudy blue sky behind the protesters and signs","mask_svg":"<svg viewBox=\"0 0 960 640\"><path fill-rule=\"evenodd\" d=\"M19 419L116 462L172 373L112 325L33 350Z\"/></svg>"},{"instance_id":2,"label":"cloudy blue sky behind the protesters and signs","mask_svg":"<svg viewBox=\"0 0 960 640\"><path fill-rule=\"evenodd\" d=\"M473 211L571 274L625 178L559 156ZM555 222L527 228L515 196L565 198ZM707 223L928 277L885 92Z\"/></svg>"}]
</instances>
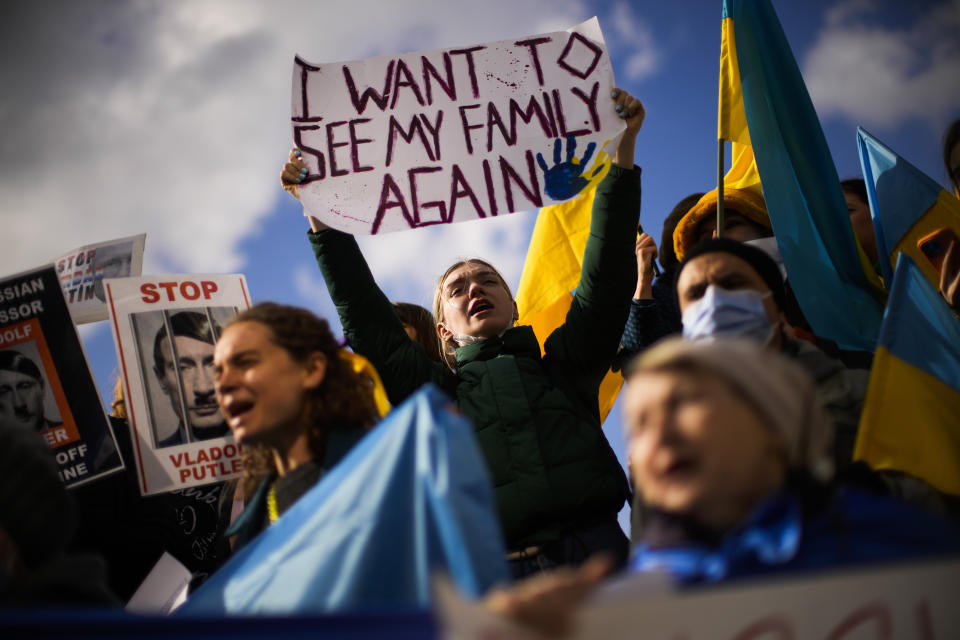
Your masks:
<instances>
[{"instance_id":1,"label":"cloudy blue sky behind the protesters and signs","mask_svg":"<svg viewBox=\"0 0 960 640\"><path fill-rule=\"evenodd\" d=\"M866 127L940 183L960 116L960 2L774 0L840 177ZM315 62L515 38L598 16L617 83L647 119L644 227L716 176L720 0L589 2L4 2L0 5L0 273L88 242L147 233L145 273L244 273L255 300L339 324L281 191L295 54ZM16 62L14 62L16 61ZM429 306L453 259L516 286L535 214L364 238L387 295ZM109 395L106 322L81 330ZM616 412L615 412L616 413ZM617 416L606 431L622 452Z\"/></svg>"}]
</instances>

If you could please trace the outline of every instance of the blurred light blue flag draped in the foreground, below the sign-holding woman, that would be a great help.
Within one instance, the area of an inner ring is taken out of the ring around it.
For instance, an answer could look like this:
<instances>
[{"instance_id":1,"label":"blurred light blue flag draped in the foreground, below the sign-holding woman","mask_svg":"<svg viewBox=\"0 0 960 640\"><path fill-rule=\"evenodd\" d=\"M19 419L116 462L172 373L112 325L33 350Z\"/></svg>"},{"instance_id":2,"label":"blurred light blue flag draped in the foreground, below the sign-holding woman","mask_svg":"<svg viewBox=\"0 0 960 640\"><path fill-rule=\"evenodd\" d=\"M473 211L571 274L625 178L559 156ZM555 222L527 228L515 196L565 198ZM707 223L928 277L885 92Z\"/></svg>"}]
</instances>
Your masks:
<instances>
[{"instance_id":1,"label":"blurred light blue flag draped in the foreground, below the sign-holding woman","mask_svg":"<svg viewBox=\"0 0 960 640\"><path fill-rule=\"evenodd\" d=\"M506 581L490 478L449 405L427 385L394 409L180 612L425 609L435 571L474 597Z\"/></svg>"}]
</instances>

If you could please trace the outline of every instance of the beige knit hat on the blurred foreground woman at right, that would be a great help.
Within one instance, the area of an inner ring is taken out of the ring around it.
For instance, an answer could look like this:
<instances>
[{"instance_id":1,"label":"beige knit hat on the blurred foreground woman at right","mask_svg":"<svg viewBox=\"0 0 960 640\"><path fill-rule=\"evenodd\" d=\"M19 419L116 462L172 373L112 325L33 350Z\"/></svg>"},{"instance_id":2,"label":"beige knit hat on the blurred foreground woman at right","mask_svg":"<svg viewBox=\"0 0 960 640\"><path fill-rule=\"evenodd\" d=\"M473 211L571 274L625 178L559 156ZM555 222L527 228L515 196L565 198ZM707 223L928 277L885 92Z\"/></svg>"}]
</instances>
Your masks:
<instances>
[{"instance_id":1,"label":"beige knit hat on the blurred foreground woman at right","mask_svg":"<svg viewBox=\"0 0 960 640\"><path fill-rule=\"evenodd\" d=\"M749 340L671 338L642 352L627 367L627 376L674 367L712 373L730 385L781 435L791 468L806 469L824 481L833 475L833 424L813 380L799 365Z\"/></svg>"}]
</instances>

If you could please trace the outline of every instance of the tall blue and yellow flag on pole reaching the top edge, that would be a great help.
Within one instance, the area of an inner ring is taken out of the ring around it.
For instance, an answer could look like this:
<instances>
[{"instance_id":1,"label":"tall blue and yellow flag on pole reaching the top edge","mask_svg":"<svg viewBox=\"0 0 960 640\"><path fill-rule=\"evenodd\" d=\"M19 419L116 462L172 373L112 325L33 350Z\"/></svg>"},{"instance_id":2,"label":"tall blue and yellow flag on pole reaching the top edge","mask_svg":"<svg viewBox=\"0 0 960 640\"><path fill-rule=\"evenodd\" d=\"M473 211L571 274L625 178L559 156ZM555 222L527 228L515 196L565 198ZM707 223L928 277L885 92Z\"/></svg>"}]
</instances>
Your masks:
<instances>
[{"instance_id":1,"label":"tall blue and yellow flag on pole reaching the top edge","mask_svg":"<svg viewBox=\"0 0 960 640\"><path fill-rule=\"evenodd\" d=\"M719 138L734 143L739 167L724 183L763 180L790 286L814 332L873 350L882 285L853 235L820 121L769 0L724 0L719 102Z\"/></svg>"}]
</instances>

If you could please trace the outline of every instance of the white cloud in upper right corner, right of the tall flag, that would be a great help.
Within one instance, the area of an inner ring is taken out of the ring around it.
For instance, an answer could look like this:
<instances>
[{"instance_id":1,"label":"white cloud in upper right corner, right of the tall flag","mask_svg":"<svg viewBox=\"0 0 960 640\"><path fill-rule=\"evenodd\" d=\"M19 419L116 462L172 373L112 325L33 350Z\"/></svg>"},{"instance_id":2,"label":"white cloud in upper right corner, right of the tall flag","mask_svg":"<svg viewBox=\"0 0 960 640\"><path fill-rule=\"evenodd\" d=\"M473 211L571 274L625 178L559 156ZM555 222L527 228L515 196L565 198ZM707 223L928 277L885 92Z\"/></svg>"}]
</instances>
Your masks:
<instances>
[{"instance_id":1,"label":"white cloud in upper right corner, right of the tall flag","mask_svg":"<svg viewBox=\"0 0 960 640\"><path fill-rule=\"evenodd\" d=\"M939 130L960 109L960 7L943 2L905 26L877 16L867 0L828 12L803 65L817 111L876 128L916 118Z\"/></svg>"}]
</instances>

